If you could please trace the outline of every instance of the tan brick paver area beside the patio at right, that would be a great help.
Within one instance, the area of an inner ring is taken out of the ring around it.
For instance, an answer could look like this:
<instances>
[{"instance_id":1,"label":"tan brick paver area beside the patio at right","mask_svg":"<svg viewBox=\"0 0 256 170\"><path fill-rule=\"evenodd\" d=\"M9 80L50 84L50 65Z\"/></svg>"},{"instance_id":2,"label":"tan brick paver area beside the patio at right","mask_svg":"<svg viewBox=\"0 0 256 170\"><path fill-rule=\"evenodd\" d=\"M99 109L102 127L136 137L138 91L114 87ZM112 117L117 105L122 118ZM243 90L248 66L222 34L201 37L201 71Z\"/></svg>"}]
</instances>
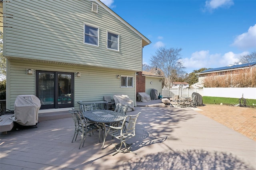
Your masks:
<instances>
[{"instance_id":1,"label":"tan brick paver area beside the patio at right","mask_svg":"<svg viewBox=\"0 0 256 170\"><path fill-rule=\"evenodd\" d=\"M213 104L198 106L197 108L202 110L196 110L198 113L256 141L256 108Z\"/></svg>"}]
</instances>

